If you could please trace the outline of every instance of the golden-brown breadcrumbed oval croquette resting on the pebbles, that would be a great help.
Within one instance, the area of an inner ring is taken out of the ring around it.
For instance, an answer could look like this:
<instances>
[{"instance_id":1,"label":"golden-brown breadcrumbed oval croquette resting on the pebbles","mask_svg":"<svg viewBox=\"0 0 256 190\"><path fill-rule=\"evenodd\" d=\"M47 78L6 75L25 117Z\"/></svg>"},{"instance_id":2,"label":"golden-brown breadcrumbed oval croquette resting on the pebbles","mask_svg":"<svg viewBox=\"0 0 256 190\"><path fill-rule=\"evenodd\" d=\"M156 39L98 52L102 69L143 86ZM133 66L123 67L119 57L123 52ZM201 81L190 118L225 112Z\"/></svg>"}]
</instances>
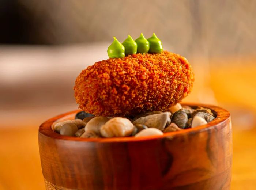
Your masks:
<instances>
[{"instance_id":1,"label":"golden-brown breadcrumbed oval croquette resting on the pebbles","mask_svg":"<svg viewBox=\"0 0 256 190\"><path fill-rule=\"evenodd\" d=\"M192 90L186 58L168 51L109 58L84 69L74 91L79 108L93 115L134 116L166 111Z\"/></svg>"}]
</instances>

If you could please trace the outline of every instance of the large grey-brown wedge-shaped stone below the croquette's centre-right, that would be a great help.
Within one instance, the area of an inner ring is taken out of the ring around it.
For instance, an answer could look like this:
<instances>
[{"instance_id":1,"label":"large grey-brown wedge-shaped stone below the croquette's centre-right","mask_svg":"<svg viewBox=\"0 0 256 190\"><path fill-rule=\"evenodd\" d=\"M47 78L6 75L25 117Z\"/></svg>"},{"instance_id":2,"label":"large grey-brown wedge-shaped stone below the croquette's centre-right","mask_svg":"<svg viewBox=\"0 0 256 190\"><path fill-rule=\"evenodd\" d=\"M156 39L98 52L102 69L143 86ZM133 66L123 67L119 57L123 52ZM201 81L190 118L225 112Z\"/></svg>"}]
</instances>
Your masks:
<instances>
[{"instance_id":1,"label":"large grey-brown wedge-shaped stone below the croquette's centre-right","mask_svg":"<svg viewBox=\"0 0 256 190\"><path fill-rule=\"evenodd\" d=\"M133 125L142 124L146 125L148 128L157 128L163 130L167 123L170 123L170 112L166 111L163 113L148 115L145 117L140 117L133 121Z\"/></svg>"}]
</instances>

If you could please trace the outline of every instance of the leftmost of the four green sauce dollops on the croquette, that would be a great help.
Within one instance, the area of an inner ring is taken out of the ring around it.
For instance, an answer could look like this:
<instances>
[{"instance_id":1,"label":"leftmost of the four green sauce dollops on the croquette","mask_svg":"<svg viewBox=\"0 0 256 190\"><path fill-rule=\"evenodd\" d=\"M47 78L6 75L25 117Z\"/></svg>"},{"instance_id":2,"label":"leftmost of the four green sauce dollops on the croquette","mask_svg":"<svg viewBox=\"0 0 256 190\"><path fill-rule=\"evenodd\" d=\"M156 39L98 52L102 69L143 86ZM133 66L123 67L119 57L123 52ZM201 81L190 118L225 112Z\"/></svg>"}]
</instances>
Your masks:
<instances>
[{"instance_id":1,"label":"leftmost of the four green sauce dollops on the croquette","mask_svg":"<svg viewBox=\"0 0 256 190\"><path fill-rule=\"evenodd\" d=\"M114 38L114 41L108 47L108 56L109 56L109 58L122 58L122 57L124 57L125 56L124 46L116 39L116 37L113 37L113 38Z\"/></svg>"}]
</instances>

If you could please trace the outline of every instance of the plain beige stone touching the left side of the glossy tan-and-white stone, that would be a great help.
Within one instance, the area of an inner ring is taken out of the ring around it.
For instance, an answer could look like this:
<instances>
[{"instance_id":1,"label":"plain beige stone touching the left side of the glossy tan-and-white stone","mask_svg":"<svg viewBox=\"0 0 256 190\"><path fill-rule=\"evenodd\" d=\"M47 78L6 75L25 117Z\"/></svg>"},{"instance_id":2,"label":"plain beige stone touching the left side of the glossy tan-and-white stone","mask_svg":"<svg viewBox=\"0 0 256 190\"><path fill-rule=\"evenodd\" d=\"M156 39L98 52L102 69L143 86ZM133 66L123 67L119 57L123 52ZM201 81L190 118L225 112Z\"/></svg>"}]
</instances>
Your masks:
<instances>
[{"instance_id":1,"label":"plain beige stone touching the left side of the glossy tan-and-white stone","mask_svg":"<svg viewBox=\"0 0 256 190\"><path fill-rule=\"evenodd\" d=\"M85 132L94 131L96 134L100 134L101 127L109 121L109 118L98 116L92 118L85 126Z\"/></svg>"}]
</instances>

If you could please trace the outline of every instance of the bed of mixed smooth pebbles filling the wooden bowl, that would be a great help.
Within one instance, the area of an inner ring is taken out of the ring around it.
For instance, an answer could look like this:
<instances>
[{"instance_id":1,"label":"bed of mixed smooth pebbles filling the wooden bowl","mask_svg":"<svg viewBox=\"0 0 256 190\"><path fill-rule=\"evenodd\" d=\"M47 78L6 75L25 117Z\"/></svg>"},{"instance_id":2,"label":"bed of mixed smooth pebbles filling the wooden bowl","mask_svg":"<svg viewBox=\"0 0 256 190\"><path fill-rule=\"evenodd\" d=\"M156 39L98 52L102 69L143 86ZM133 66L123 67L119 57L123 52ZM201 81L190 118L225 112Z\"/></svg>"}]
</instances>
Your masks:
<instances>
[{"instance_id":1,"label":"bed of mixed smooth pebbles filling the wooden bowl","mask_svg":"<svg viewBox=\"0 0 256 190\"><path fill-rule=\"evenodd\" d=\"M162 135L165 132L194 128L215 119L212 111L205 107L193 109L176 104L169 111L153 111L131 117L95 117L84 111L74 120L57 122L52 129L66 136L81 138L142 137Z\"/></svg>"}]
</instances>

